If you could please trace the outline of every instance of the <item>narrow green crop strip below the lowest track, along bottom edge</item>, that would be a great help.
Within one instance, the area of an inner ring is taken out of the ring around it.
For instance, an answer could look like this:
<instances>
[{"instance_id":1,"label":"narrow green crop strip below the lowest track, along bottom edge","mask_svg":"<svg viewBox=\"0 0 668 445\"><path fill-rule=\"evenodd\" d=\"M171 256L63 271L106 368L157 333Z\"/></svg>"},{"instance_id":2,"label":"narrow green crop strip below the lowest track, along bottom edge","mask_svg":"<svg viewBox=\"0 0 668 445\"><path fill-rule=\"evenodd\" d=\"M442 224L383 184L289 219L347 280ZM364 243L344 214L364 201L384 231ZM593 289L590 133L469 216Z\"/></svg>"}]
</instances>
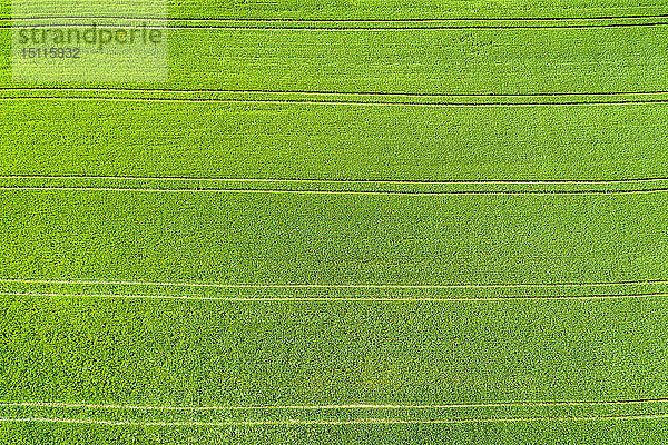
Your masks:
<instances>
[{"instance_id":1,"label":"narrow green crop strip below the lowest track, along bottom edge","mask_svg":"<svg viewBox=\"0 0 668 445\"><path fill-rule=\"evenodd\" d=\"M127 428L107 426L90 428L87 426L31 425L29 427L0 426L0 443L67 443L76 445L109 443L149 443L149 444L393 444L399 437L412 444L432 444L434 442L459 442L468 444L647 444L666 441L666 422L637 422L615 424L609 422L566 423L550 422L510 425L426 425L426 426L314 426L301 428L282 427L143 427Z\"/></svg>"}]
</instances>

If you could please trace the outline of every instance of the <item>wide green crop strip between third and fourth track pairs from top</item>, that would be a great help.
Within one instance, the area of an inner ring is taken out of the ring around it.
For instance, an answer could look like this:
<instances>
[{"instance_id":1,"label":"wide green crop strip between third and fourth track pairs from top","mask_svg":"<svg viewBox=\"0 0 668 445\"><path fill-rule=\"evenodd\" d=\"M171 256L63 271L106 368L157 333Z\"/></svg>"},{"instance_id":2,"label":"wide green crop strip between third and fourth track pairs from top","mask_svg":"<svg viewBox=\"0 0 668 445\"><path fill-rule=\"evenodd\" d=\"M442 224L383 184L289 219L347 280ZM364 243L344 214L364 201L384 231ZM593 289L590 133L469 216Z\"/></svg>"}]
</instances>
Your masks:
<instances>
[{"instance_id":1,"label":"wide green crop strip between third and fourth track pairs from top","mask_svg":"<svg viewBox=\"0 0 668 445\"><path fill-rule=\"evenodd\" d=\"M665 192L0 194L7 277L435 285L623 281L668 273Z\"/></svg>"}]
</instances>

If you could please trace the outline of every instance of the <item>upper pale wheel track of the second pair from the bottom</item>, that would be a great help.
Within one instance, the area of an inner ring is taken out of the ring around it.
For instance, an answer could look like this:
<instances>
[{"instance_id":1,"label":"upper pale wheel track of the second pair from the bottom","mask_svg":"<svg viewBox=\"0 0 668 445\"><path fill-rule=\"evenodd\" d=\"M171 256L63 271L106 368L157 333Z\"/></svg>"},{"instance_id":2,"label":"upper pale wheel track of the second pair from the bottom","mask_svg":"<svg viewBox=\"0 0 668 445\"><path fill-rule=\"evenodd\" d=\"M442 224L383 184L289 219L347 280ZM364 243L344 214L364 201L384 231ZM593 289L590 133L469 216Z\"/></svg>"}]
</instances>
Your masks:
<instances>
[{"instance_id":1,"label":"upper pale wheel track of the second pair from the bottom","mask_svg":"<svg viewBox=\"0 0 668 445\"><path fill-rule=\"evenodd\" d=\"M105 286L168 286L168 287L208 287L229 289L509 289L509 288L558 288L558 287L608 287L666 285L668 279L628 280L610 283L505 283L505 284L446 284L446 285L400 285L400 284L223 284L223 283L176 283L176 281L131 281L104 279L41 279L41 278L0 278L9 284L48 285L105 285Z\"/></svg>"}]
</instances>

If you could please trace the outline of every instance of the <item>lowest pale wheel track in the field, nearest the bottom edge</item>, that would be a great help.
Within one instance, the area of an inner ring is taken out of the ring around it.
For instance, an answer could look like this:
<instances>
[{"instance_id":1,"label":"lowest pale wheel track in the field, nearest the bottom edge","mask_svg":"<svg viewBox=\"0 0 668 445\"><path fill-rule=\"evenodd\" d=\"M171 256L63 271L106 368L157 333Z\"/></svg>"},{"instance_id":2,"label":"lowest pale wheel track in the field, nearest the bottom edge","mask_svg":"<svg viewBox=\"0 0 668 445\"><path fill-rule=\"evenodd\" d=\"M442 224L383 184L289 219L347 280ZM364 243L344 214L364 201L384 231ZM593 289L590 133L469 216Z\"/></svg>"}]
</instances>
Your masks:
<instances>
[{"instance_id":1,"label":"lowest pale wheel track in the field, nearest the bottom edge","mask_svg":"<svg viewBox=\"0 0 668 445\"><path fill-rule=\"evenodd\" d=\"M372 424L479 424L479 423L533 423L533 422L596 422L596 421L648 421L668 418L668 414L639 414L623 416L572 416L572 417L492 417L492 418L358 418L345 421L324 419L284 419L284 421L225 421L225 422L136 422L136 421L101 421L92 418L47 418L47 417L0 417L0 422L20 423L62 423L92 424L108 426L289 426L289 425L372 425Z\"/></svg>"}]
</instances>

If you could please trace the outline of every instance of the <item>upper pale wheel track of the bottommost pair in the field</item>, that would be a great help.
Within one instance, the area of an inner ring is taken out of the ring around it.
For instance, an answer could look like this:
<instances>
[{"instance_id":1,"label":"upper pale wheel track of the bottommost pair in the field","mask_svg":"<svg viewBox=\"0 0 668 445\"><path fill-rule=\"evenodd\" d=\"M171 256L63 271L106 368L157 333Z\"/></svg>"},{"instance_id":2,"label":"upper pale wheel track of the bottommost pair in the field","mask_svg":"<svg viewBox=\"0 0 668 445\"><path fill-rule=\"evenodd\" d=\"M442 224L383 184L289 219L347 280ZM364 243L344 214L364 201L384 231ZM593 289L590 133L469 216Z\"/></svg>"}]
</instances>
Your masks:
<instances>
[{"instance_id":1,"label":"upper pale wheel track of the bottommost pair in the field","mask_svg":"<svg viewBox=\"0 0 668 445\"><path fill-rule=\"evenodd\" d=\"M550 400L550 402L489 402L472 404L433 404L433 405L401 405L401 404L342 404L342 405L257 405L257 406L159 406L159 405L118 405L118 404L77 404L59 402L16 402L0 403L0 407L35 407L35 408L92 408L92 409L131 409L131 411L336 411L336 409L458 409L458 408L532 408L559 406L623 406L666 404L668 398L641 398L625 400Z\"/></svg>"}]
</instances>

